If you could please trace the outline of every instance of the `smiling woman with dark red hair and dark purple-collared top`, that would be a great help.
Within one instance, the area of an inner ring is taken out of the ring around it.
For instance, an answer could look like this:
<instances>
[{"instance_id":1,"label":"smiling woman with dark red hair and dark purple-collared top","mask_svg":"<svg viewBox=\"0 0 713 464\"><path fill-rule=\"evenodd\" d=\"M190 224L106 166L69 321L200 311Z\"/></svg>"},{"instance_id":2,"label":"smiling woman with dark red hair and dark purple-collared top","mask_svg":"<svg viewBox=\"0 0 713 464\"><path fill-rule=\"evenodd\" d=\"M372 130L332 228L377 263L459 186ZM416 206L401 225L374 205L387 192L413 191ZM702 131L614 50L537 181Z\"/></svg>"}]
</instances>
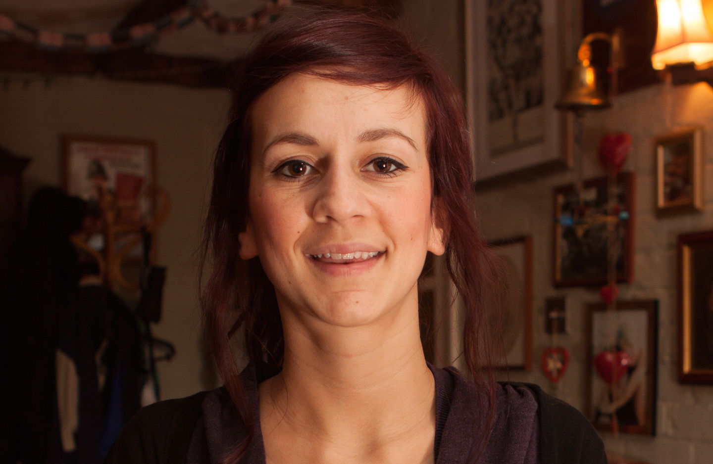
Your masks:
<instances>
[{"instance_id":1,"label":"smiling woman with dark red hair and dark purple-collared top","mask_svg":"<svg viewBox=\"0 0 713 464\"><path fill-rule=\"evenodd\" d=\"M225 388L146 408L108 462L605 462L572 408L481 376L492 282L468 133L429 56L379 20L319 10L275 26L233 91L204 295ZM474 381L424 359L427 252L446 254L468 309Z\"/></svg>"}]
</instances>

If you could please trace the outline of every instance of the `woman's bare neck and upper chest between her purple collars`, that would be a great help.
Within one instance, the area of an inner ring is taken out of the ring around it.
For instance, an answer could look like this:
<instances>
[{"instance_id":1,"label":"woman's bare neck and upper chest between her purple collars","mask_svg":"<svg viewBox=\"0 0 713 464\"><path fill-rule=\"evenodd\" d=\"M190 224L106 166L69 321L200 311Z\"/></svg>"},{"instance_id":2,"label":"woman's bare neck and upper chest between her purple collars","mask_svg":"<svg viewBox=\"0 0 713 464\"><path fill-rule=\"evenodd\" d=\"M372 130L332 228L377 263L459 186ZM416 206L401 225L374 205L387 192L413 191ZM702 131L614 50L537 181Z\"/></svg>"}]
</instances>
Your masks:
<instances>
[{"instance_id":1,"label":"woman's bare neck and upper chest between her purple collars","mask_svg":"<svg viewBox=\"0 0 713 464\"><path fill-rule=\"evenodd\" d=\"M347 455L354 462L433 461L434 377L417 312L397 312L389 321L317 334L283 315L284 367L260 384L268 455L281 438L309 445L312 455L279 462L346 463Z\"/></svg>"}]
</instances>

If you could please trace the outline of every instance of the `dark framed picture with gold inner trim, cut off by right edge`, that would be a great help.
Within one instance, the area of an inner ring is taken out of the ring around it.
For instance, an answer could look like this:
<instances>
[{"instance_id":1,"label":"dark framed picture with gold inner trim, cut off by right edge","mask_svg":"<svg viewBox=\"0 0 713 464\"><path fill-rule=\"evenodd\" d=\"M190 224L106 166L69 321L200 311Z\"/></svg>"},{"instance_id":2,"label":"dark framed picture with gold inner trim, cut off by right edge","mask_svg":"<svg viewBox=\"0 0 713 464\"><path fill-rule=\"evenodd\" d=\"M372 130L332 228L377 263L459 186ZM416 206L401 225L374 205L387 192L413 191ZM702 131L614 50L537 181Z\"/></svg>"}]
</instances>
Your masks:
<instances>
[{"instance_id":1,"label":"dark framed picture with gold inner trim, cut off by right edge","mask_svg":"<svg viewBox=\"0 0 713 464\"><path fill-rule=\"evenodd\" d=\"M713 230L678 237L679 381L713 385Z\"/></svg>"}]
</instances>

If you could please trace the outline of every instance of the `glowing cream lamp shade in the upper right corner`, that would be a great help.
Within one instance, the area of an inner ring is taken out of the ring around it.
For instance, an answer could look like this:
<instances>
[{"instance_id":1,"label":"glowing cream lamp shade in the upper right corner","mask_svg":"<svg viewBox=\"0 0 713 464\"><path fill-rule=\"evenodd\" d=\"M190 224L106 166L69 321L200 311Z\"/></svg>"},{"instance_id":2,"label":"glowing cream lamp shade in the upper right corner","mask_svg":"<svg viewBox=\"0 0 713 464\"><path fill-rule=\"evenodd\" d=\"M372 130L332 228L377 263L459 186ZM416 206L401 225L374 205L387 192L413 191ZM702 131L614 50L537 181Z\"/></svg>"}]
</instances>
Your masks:
<instances>
[{"instance_id":1,"label":"glowing cream lamp shade in the upper right corner","mask_svg":"<svg viewBox=\"0 0 713 464\"><path fill-rule=\"evenodd\" d=\"M659 27L651 64L713 61L713 0L656 0Z\"/></svg>"}]
</instances>

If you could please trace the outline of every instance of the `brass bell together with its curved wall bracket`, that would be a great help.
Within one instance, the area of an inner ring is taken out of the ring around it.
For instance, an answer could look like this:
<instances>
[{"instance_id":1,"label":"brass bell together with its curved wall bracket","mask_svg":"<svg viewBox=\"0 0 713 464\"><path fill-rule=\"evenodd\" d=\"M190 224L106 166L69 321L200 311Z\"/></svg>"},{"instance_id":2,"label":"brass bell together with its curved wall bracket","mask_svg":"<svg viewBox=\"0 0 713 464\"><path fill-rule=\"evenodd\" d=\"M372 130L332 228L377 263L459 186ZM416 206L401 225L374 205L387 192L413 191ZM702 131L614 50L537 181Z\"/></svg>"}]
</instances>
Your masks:
<instances>
[{"instance_id":1,"label":"brass bell together with its curved wall bracket","mask_svg":"<svg viewBox=\"0 0 713 464\"><path fill-rule=\"evenodd\" d=\"M713 0L712 0L713 1ZM621 64L619 33L593 32L582 39L577 51L577 64L570 69L567 88L562 98L555 104L559 110L583 113L585 110L609 108L610 97L617 93L617 71ZM611 45L611 82L609 92L604 91L602 78L592 66L592 42L607 41Z\"/></svg>"}]
</instances>

